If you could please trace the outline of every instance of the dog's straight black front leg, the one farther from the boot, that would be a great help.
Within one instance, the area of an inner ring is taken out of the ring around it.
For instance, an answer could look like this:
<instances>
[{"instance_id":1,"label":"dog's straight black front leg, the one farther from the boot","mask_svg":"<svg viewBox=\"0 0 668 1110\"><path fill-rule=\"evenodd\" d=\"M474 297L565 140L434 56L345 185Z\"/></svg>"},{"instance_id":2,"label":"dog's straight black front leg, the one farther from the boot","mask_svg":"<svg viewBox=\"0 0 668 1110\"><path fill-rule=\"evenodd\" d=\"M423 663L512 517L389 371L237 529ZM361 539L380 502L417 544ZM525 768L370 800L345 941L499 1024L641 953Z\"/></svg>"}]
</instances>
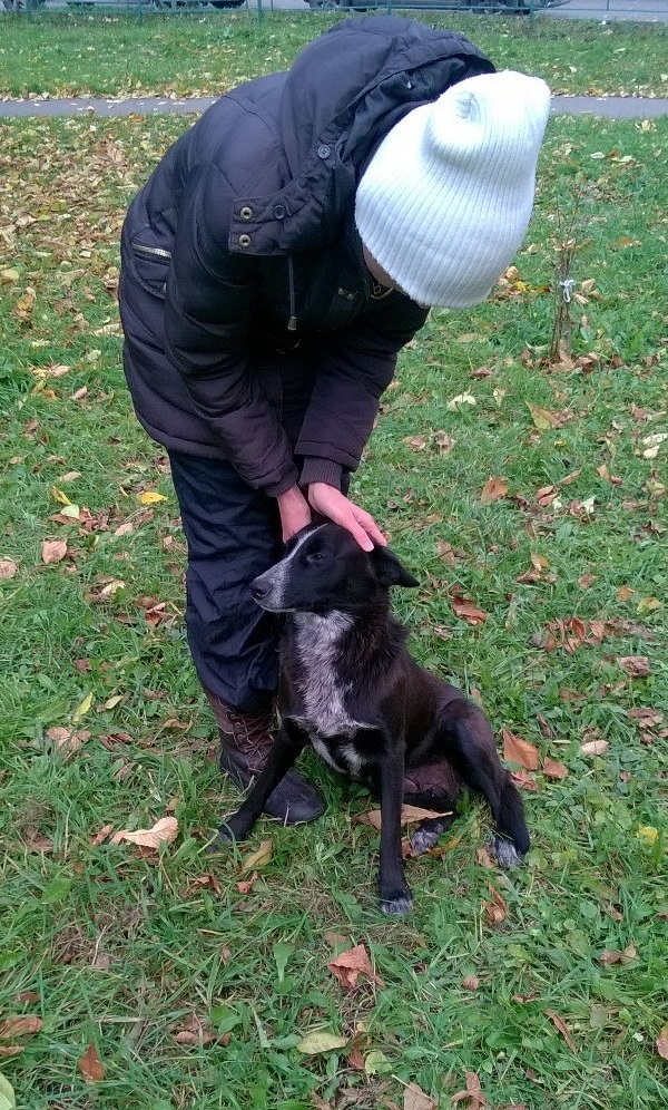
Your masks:
<instances>
[{"instance_id":1,"label":"dog's straight black front leg, the one farther from the boot","mask_svg":"<svg viewBox=\"0 0 668 1110\"><path fill-rule=\"evenodd\" d=\"M381 779L381 866L379 892L384 914L407 914L413 905L401 855L401 807L403 802L404 749L385 742L390 750L380 765Z\"/></svg>"}]
</instances>

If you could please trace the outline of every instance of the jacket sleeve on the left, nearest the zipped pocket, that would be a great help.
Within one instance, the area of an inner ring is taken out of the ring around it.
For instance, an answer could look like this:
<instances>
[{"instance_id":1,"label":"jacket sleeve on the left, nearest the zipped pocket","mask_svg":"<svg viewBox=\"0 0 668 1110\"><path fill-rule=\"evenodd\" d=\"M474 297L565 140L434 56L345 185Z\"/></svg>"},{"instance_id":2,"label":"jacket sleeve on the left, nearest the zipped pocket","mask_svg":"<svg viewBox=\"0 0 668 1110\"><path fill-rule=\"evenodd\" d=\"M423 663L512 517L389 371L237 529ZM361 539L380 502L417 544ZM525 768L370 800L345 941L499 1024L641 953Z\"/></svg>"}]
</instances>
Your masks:
<instances>
[{"instance_id":1,"label":"jacket sleeve on the left, nearest the zipped pocket","mask_svg":"<svg viewBox=\"0 0 668 1110\"><path fill-rule=\"evenodd\" d=\"M235 469L254 488L276 496L296 483L297 468L249 366L257 267L252 257L229 251L230 213L225 176L213 164L197 166L167 280L167 354Z\"/></svg>"}]
</instances>

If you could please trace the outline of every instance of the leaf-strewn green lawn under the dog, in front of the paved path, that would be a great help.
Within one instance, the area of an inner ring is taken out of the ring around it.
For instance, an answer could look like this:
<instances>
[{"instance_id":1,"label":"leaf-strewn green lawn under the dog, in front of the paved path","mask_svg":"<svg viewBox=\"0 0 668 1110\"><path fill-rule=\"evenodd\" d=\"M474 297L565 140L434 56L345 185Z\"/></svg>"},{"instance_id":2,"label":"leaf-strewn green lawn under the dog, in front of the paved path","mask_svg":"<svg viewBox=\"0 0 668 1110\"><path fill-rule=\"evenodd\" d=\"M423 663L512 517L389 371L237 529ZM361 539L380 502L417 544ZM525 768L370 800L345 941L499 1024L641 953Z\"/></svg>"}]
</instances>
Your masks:
<instances>
[{"instance_id":1,"label":"leaf-strewn green lawn under the dog, in front of the paved path","mask_svg":"<svg viewBox=\"0 0 668 1110\"><path fill-rule=\"evenodd\" d=\"M407 861L405 921L377 909L370 799L313 756L323 818L205 851L238 793L115 303L124 207L186 125L2 125L0 1107L657 1110L668 119L550 120L515 269L432 314L355 479L421 582L395 598L415 655L481 699L500 748L529 746L525 865L490 866L469 799ZM550 361L564 236L572 352ZM159 850L111 843L164 817ZM333 961L358 945L346 982Z\"/></svg>"}]
</instances>

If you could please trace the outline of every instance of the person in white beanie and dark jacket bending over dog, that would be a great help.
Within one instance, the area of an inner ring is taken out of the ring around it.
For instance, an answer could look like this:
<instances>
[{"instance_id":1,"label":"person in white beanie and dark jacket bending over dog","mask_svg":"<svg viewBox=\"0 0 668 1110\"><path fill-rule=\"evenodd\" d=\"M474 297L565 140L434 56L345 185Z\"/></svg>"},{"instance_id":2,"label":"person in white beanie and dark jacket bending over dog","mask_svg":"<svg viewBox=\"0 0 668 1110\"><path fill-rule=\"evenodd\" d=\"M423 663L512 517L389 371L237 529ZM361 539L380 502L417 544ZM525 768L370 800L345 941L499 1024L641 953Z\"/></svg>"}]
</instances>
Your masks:
<instances>
[{"instance_id":1,"label":"person in white beanie and dark jacket bending over dog","mask_svg":"<svg viewBox=\"0 0 668 1110\"><path fill-rule=\"evenodd\" d=\"M249 583L314 514L385 543L350 476L429 306L483 301L518 250L549 104L462 36L353 18L217 100L129 206L124 366L169 456L190 653L240 785L278 681L279 629ZM323 809L296 772L266 806Z\"/></svg>"}]
</instances>

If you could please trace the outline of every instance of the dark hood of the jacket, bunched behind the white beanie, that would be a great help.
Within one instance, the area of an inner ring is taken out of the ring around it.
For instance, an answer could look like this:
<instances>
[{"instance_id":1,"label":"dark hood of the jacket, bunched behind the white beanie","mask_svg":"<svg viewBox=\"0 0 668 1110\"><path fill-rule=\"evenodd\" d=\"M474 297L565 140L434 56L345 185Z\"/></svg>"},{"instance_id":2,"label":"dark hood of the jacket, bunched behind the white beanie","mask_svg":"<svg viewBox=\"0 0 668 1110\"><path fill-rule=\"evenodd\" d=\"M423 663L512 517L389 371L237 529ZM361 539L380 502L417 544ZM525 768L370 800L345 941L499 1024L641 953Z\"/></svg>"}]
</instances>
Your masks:
<instances>
[{"instance_id":1,"label":"dark hood of the jacket, bunched behind the white beanie","mask_svg":"<svg viewBox=\"0 0 668 1110\"><path fill-rule=\"evenodd\" d=\"M396 16L347 19L320 35L283 84L278 128L288 179L259 202L239 198L230 249L249 201L259 217L258 253L333 241L342 212L353 210L362 168L390 128L456 81L493 71L463 36Z\"/></svg>"}]
</instances>

